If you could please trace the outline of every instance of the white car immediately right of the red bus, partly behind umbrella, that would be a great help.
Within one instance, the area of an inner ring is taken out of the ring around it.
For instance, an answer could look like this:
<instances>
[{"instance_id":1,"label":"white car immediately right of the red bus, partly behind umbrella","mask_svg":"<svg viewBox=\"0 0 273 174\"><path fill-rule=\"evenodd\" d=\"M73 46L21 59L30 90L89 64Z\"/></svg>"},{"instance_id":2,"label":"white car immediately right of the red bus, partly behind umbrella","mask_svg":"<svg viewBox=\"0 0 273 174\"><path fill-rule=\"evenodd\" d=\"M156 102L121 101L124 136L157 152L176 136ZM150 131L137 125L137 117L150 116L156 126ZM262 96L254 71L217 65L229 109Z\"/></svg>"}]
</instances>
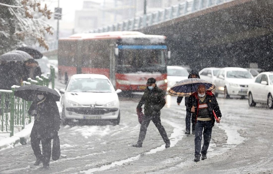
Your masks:
<instances>
[{"instance_id":1,"label":"white car immediately right of the red bus, partly behind umbrella","mask_svg":"<svg viewBox=\"0 0 273 174\"><path fill-rule=\"evenodd\" d=\"M188 79L188 76L188 71L181 66L167 66L167 91L177 82Z\"/></svg>"}]
</instances>

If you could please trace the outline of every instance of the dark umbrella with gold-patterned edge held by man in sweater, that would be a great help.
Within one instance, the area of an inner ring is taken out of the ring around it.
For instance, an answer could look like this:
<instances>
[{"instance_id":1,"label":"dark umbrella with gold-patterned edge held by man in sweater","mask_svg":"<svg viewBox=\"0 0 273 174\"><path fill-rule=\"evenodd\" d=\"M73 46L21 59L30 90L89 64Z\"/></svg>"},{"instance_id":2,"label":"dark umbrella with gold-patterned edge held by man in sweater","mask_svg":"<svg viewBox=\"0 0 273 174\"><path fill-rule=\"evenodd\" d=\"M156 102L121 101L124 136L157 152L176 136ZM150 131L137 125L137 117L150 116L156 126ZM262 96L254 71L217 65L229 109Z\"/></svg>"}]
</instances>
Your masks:
<instances>
[{"instance_id":1,"label":"dark umbrella with gold-patterned edge held by man in sweater","mask_svg":"<svg viewBox=\"0 0 273 174\"><path fill-rule=\"evenodd\" d=\"M206 87L206 90L214 91L216 89L216 86L213 83L202 79L191 78L177 82L168 90L168 93L171 95L187 97L196 92L198 86L201 84Z\"/></svg>"}]
</instances>

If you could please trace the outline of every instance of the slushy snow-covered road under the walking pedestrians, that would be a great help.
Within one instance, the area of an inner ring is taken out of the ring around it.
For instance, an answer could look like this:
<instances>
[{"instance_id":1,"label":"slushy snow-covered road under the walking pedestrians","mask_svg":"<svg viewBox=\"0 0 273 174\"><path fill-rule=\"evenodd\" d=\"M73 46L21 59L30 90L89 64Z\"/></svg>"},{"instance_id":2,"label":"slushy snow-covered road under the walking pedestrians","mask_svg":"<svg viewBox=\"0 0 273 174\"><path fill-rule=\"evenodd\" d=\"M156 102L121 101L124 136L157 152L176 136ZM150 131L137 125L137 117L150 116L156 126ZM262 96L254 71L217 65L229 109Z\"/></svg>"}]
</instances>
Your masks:
<instances>
[{"instance_id":1,"label":"slushy snow-covered road under the walking pedestrians","mask_svg":"<svg viewBox=\"0 0 273 174\"><path fill-rule=\"evenodd\" d=\"M148 127L142 148L135 108L140 95L120 97L121 123L63 126L59 132L61 155L49 169L33 166L28 143L0 151L0 173L272 173L272 110L249 108L247 100L217 98L222 111L213 127L207 160L195 163L194 136L185 136L185 106L167 96L161 119L171 147L165 149L154 124ZM184 102L184 100L183 100Z\"/></svg>"}]
</instances>

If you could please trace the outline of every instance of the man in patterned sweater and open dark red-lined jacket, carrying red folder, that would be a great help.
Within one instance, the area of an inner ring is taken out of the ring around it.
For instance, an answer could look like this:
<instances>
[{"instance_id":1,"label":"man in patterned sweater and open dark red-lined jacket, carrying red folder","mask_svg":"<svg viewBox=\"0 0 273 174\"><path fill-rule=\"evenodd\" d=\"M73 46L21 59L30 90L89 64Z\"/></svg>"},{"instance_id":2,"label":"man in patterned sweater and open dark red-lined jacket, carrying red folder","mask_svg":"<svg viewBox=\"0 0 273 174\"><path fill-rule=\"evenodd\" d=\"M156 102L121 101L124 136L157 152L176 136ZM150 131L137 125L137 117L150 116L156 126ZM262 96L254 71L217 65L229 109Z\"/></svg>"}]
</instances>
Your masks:
<instances>
[{"instance_id":1,"label":"man in patterned sweater and open dark red-lined jacket, carrying red folder","mask_svg":"<svg viewBox=\"0 0 273 174\"><path fill-rule=\"evenodd\" d=\"M215 123L215 117L213 112L215 112L216 114L217 123L220 123L222 117L218 102L211 91L206 91L206 87L204 85L199 85L197 92L194 92L189 97L189 103L187 108L188 111L193 113L192 117L194 117L196 121L194 138L194 161L200 161L201 155L201 160L205 160L207 159L207 149L209 148L212 127ZM204 143L201 149L202 134L204 135Z\"/></svg>"}]
</instances>

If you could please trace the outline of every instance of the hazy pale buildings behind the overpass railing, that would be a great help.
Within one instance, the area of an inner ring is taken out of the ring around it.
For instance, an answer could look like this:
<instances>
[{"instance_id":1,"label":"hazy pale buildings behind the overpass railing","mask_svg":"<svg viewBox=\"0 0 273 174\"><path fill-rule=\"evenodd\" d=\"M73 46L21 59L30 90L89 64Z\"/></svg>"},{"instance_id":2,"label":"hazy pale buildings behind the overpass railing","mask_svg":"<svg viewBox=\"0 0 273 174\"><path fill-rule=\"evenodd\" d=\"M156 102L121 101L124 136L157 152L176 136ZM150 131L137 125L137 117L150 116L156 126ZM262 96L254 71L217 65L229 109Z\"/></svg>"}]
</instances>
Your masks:
<instances>
[{"instance_id":1,"label":"hazy pale buildings behind the overpass railing","mask_svg":"<svg viewBox=\"0 0 273 174\"><path fill-rule=\"evenodd\" d=\"M147 0L147 13L186 0ZM143 15L144 0L86 0L82 10L75 11L75 33L88 32L115 22Z\"/></svg>"}]
</instances>

